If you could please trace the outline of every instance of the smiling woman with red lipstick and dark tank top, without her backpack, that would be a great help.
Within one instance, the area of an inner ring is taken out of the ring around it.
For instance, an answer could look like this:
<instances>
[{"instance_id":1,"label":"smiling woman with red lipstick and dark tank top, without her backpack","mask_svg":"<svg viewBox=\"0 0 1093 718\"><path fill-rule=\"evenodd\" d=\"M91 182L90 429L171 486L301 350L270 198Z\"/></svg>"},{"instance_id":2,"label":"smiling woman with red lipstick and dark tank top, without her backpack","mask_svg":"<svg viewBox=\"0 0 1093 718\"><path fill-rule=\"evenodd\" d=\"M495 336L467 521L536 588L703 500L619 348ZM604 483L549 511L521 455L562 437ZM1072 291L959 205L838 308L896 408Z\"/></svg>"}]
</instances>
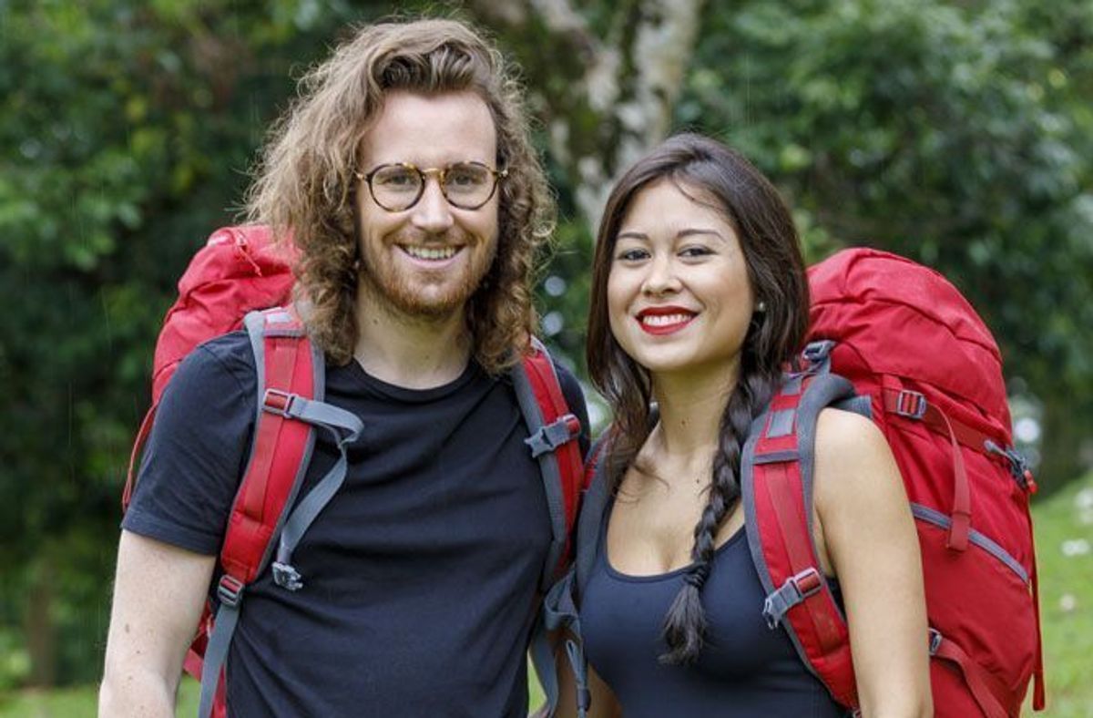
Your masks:
<instances>
[{"instance_id":1,"label":"smiling woman with red lipstick and dark tank top, without her backpack","mask_svg":"<svg viewBox=\"0 0 1093 718\"><path fill-rule=\"evenodd\" d=\"M767 628L740 504L749 426L807 322L792 220L747 160L683 134L622 177L588 321L589 373L615 416L613 501L579 603L589 716L845 714ZM930 715L921 567L888 445L868 419L825 409L814 466L813 540L862 715Z\"/></svg>"}]
</instances>

